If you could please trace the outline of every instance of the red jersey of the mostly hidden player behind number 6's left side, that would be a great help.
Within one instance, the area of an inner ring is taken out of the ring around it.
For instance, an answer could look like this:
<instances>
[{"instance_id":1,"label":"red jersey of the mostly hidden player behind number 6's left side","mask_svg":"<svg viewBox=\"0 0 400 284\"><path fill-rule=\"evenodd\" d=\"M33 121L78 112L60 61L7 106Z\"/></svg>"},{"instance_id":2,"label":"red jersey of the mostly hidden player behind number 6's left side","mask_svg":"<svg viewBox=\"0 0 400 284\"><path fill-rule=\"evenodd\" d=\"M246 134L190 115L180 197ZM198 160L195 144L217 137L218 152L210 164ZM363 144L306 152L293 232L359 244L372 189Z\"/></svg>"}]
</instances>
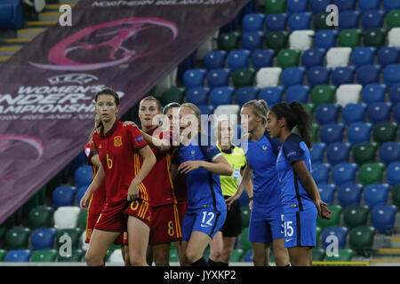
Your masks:
<instances>
[{"instance_id":1,"label":"red jersey of the mostly hidden player behind number 6's left side","mask_svg":"<svg viewBox=\"0 0 400 284\"><path fill-rule=\"evenodd\" d=\"M96 177L97 167L95 167L92 162L92 156L97 154L97 151L94 149L94 143L89 142L84 146L84 154L87 158L87 163L92 166L93 170L93 178ZM104 182L99 186L99 188L93 193L91 201L89 203L89 212L92 214L99 215L101 213L101 209L103 209L106 204L106 187L104 186Z\"/></svg>"}]
</instances>

